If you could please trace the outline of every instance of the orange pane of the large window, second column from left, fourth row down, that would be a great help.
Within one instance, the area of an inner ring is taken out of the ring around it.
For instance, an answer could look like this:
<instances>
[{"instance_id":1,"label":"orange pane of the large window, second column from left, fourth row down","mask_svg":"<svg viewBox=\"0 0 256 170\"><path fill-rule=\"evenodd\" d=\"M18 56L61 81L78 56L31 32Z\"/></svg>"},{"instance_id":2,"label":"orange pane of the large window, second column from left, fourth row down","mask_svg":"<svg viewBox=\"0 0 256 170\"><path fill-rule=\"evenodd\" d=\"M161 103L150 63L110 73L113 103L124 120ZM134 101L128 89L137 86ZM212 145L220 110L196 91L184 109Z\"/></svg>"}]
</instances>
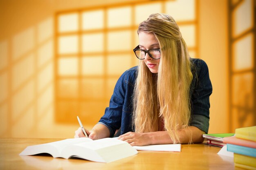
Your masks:
<instances>
[{"instance_id":1,"label":"orange pane of the large window, second column from left, fourth row down","mask_svg":"<svg viewBox=\"0 0 256 170\"><path fill-rule=\"evenodd\" d=\"M88 78L82 81L82 97L85 99L104 98L104 79Z\"/></svg>"}]
</instances>

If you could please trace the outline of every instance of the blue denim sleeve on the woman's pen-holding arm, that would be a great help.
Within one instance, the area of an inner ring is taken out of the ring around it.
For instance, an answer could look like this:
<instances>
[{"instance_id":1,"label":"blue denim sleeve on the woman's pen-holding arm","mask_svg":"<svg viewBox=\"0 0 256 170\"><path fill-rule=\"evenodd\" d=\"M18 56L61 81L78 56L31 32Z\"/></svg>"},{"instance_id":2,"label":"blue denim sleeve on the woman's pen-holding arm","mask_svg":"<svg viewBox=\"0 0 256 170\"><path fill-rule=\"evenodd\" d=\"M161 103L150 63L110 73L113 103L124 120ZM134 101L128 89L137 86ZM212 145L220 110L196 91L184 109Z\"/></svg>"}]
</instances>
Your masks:
<instances>
[{"instance_id":1,"label":"blue denim sleeve on the woman's pen-holding arm","mask_svg":"<svg viewBox=\"0 0 256 170\"><path fill-rule=\"evenodd\" d=\"M105 114L98 122L98 124L103 124L109 129L110 137L112 137L115 131L121 126L122 108L126 91L125 77L126 72L117 80L109 107L105 109Z\"/></svg>"}]
</instances>

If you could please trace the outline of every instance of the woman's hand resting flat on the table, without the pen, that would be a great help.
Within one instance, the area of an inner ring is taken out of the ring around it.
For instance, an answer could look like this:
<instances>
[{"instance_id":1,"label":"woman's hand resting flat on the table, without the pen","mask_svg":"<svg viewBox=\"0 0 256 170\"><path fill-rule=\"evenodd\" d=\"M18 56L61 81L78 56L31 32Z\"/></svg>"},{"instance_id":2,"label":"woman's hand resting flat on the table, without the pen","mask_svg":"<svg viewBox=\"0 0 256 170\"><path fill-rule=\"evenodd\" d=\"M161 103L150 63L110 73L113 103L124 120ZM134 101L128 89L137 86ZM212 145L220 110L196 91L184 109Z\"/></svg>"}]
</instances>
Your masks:
<instances>
[{"instance_id":1,"label":"woman's hand resting flat on the table, without the pen","mask_svg":"<svg viewBox=\"0 0 256 170\"><path fill-rule=\"evenodd\" d=\"M128 142L131 146L145 146L151 144L151 138L148 133L127 132L120 135L118 139Z\"/></svg>"}]
</instances>

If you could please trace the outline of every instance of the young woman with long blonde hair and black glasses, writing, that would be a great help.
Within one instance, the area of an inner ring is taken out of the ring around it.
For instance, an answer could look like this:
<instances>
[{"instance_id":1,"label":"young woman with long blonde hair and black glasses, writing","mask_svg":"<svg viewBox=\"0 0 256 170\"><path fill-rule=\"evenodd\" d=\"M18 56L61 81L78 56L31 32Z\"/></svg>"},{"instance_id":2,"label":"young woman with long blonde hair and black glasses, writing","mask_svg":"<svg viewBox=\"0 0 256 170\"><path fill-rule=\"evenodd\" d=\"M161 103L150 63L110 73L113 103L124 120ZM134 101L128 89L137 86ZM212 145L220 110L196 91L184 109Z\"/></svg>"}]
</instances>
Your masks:
<instances>
[{"instance_id":1,"label":"young woman with long blonde hair and black glasses, writing","mask_svg":"<svg viewBox=\"0 0 256 170\"><path fill-rule=\"evenodd\" d=\"M121 75L110 106L88 137L113 137L120 129L118 139L132 146L202 142L212 93L207 64L189 57L170 15L151 14L137 33L133 51L139 66ZM84 137L81 128L75 137Z\"/></svg>"}]
</instances>

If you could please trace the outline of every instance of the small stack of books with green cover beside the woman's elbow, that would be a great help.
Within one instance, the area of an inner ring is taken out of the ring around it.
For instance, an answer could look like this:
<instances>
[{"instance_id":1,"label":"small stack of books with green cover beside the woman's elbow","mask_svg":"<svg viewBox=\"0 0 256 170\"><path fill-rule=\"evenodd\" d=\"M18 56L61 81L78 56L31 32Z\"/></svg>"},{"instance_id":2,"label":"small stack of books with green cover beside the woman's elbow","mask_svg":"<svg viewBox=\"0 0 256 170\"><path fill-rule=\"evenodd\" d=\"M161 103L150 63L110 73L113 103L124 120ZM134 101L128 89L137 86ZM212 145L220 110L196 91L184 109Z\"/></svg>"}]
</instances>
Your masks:
<instances>
[{"instance_id":1,"label":"small stack of books with green cover beside the woman's elbow","mask_svg":"<svg viewBox=\"0 0 256 170\"><path fill-rule=\"evenodd\" d=\"M234 133L215 133L215 134L203 134L203 137L206 139L208 145L223 147L226 144L223 143L224 137L234 136Z\"/></svg>"}]
</instances>

